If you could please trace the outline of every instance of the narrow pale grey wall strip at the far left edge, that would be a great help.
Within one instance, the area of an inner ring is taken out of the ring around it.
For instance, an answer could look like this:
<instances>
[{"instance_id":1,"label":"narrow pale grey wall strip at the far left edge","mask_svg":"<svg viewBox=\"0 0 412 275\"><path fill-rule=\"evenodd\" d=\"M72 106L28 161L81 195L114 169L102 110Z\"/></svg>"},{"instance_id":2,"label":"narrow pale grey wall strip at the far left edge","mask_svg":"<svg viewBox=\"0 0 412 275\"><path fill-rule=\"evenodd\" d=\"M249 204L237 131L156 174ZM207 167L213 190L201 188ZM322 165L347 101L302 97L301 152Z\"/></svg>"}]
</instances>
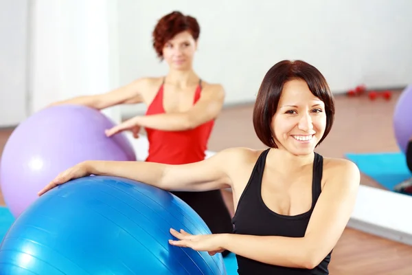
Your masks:
<instances>
[{"instance_id":1,"label":"narrow pale grey wall strip at the far left edge","mask_svg":"<svg viewBox=\"0 0 412 275\"><path fill-rule=\"evenodd\" d=\"M0 127L26 116L27 0L0 1Z\"/></svg>"}]
</instances>

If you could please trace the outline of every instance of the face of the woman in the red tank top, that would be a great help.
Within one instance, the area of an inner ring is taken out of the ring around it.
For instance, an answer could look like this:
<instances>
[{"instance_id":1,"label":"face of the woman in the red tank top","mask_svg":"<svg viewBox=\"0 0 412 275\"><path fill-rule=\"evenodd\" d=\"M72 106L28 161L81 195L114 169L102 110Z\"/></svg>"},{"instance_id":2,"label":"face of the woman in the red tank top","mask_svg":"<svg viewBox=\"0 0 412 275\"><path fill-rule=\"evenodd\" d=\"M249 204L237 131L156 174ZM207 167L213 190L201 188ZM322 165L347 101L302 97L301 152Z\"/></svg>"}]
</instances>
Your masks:
<instances>
[{"instance_id":1,"label":"face of the woman in the red tank top","mask_svg":"<svg viewBox=\"0 0 412 275\"><path fill-rule=\"evenodd\" d=\"M163 58L172 69L190 69L194 54L197 48L197 41L194 40L190 32L180 32L163 47Z\"/></svg>"}]
</instances>

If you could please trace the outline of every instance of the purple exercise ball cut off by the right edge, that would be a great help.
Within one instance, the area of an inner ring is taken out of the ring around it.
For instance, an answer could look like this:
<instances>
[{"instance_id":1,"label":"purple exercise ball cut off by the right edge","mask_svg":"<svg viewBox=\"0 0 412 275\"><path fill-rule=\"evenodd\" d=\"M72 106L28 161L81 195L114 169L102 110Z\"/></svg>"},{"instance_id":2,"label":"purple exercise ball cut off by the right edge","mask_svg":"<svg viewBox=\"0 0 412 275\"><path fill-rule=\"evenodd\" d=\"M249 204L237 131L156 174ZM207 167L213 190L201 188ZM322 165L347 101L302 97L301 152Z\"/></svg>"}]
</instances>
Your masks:
<instances>
[{"instance_id":1,"label":"purple exercise ball cut off by the right edge","mask_svg":"<svg viewBox=\"0 0 412 275\"><path fill-rule=\"evenodd\" d=\"M393 128L396 142L400 150L405 153L412 138L412 85L406 87L400 95L393 113Z\"/></svg>"}]
</instances>

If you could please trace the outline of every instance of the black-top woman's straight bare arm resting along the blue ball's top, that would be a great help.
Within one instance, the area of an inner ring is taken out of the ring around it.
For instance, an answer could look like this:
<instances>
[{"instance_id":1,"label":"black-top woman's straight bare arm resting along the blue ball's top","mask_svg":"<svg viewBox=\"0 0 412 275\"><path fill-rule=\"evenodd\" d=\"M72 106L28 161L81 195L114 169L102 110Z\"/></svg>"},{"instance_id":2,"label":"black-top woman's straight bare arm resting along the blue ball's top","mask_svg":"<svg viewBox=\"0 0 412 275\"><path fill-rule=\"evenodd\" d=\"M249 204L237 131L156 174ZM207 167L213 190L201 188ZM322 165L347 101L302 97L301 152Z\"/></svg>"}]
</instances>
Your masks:
<instances>
[{"instance_id":1,"label":"black-top woman's straight bare arm resting along the blue ball's top","mask_svg":"<svg viewBox=\"0 0 412 275\"><path fill-rule=\"evenodd\" d=\"M87 161L60 173L38 195L59 184L87 175L111 175L140 181L165 190L206 191L231 187L228 165L237 149L216 153L201 162L182 165L155 162ZM236 156L236 155L235 155Z\"/></svg>"}]
</instances>

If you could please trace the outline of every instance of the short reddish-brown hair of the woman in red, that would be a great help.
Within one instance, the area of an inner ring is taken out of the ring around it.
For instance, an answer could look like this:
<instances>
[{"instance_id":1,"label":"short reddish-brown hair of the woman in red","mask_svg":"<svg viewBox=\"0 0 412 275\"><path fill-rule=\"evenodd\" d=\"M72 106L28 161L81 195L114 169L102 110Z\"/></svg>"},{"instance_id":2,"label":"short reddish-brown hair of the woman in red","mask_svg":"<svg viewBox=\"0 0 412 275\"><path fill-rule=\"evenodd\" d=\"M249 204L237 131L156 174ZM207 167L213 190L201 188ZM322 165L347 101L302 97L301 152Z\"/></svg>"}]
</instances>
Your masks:
<instances>
[{"instance_id":1,"label":"short reddish-brown hair of the woman in red","mask_svg":"<svg viewBox=\"0 0 412 275\"><path fill-rule=\"evenodd\" d=\"M201 34L201 28L198 21L189 15L183 15L181 12L171 12L159 19L155 30L153 30L153 47L157 56L163 59L163 47L165 43L172 39L180 32L188 31L192 34L193 39L197 40Z\"/></svg>"}]
</instances>

